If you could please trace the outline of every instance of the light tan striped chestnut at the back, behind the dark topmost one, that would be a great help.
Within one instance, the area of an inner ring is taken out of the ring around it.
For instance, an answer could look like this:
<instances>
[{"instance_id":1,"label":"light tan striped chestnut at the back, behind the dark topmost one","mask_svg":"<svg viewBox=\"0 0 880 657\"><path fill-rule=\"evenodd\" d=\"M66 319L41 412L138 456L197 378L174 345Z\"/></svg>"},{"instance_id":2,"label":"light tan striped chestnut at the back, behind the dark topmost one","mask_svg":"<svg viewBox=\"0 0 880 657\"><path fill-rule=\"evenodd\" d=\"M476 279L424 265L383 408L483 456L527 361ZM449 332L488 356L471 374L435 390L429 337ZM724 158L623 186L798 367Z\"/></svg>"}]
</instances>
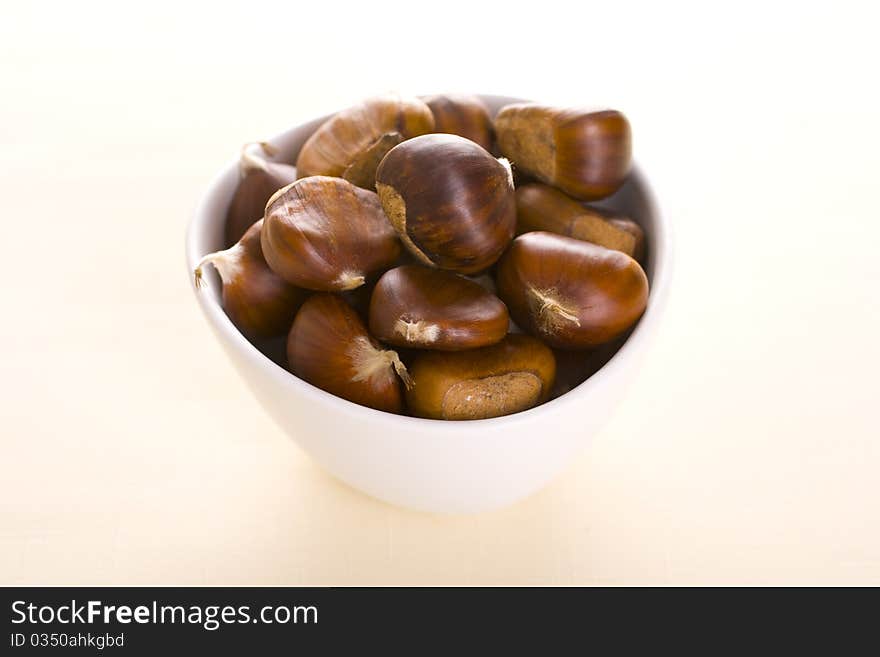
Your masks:
<instances>
[{"instance_id":1,"label":"light tan striped chestnut at the back, behind the dark topmost one","mask_svg":"<svg viewBox=\"0 0 880 657\"><path fill-rule=\"evenodd\" d=\"M338 176L374 189L376 167L405 139L434 130L431 109L418 98L369 98L321 125L300 149L299 175Z\"/></svg>"}]
</instances>

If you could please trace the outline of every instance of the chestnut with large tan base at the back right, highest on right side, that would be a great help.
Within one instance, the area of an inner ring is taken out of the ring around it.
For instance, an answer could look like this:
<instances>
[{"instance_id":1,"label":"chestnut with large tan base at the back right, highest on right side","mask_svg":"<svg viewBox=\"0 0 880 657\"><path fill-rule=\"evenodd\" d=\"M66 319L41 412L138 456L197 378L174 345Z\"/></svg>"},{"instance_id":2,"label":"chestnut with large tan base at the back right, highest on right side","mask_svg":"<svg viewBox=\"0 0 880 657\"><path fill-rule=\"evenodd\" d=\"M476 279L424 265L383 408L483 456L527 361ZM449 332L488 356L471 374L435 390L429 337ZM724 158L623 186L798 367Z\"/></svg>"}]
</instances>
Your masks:
<instances>
[{"instance_id":1,"label":"chestnut with large tan base at the back right, highest on right side","mask_svg":"<svg viewBox=\"0 0 880 657\"><path fill-rule=\"evenodd\" d=\"M495 134L517 169L585 201L613 193L629 173L629 122L615 110L517 103L498 112Z\"/></svg>"}]
</instances>

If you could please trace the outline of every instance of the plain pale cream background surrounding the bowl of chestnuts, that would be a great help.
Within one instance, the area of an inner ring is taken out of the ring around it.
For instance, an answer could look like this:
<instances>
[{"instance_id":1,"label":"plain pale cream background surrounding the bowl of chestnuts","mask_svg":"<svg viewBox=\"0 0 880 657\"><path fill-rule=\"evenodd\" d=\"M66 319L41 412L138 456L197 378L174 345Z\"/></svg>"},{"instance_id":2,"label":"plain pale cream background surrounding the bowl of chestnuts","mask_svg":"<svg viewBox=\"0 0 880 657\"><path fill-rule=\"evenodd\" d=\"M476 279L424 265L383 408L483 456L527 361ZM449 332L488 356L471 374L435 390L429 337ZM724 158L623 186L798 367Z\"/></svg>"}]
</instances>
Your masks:
<instances>
[{"instance_id":1,"label":"plain pale cream background surrounding the bowl of chestnuts","mask_svg":"<svg viewBox=\"0 0 880 657\"><path fill-rule=\"evenodd\" d=\"M0 583L880 584L868 3L32 4L0 20ZM497 513L323 474L186 280L241 143L388 89L619 107L675 229L626 401Z\"/></svg>"}]
</instances>

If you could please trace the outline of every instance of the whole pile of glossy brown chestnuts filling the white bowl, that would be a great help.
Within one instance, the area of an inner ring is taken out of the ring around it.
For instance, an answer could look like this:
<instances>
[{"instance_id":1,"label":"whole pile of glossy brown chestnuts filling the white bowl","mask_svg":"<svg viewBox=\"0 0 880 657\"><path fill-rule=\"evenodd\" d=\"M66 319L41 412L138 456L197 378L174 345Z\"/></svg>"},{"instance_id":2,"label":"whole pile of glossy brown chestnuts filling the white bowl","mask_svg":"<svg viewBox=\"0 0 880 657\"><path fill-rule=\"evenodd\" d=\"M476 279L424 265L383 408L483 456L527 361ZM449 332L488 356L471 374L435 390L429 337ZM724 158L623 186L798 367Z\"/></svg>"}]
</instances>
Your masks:
<instances>
[{"instance_id":1,"label":"whole pile of glossy brown chestnuts filling the white bowl","mask_svg":"<svg viewBox=\"0 0 880 657\"><path fill-rule=\"evenodd\" d=\"M641 228L583 203L629 172L620 112L521 103L493 120L472 96L389 95L282 159L242 151L228 248L196 283L211 263L232 322L286 334L289 369L334 395L425 418L515 413L549 398L567 354L645 310Z\"/></svg>"}]
</instances>

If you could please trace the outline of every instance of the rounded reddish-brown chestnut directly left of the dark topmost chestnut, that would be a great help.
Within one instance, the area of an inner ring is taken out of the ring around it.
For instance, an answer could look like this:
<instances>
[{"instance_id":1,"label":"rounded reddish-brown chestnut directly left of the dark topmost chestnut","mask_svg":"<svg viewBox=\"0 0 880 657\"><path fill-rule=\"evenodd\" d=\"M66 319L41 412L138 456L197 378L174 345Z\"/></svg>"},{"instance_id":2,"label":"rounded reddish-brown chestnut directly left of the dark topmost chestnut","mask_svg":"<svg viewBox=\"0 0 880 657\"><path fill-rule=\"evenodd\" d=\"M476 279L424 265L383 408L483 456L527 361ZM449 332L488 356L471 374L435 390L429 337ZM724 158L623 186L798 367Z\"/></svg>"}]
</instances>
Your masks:
<instances>
[{"instance_id":1,"label":"rounded reddish-brown chestnut directly left of the dark topmost chestnut","mask_svg":"<svg viewBox=\"0 0 880 657\"><path fill-rule=\"evenodd\" d=\"M293 285L339 292L390 267L400 242L374 192L342 178L301 178L266 204L263 255Z\"/></svg>"}]
</instances>

